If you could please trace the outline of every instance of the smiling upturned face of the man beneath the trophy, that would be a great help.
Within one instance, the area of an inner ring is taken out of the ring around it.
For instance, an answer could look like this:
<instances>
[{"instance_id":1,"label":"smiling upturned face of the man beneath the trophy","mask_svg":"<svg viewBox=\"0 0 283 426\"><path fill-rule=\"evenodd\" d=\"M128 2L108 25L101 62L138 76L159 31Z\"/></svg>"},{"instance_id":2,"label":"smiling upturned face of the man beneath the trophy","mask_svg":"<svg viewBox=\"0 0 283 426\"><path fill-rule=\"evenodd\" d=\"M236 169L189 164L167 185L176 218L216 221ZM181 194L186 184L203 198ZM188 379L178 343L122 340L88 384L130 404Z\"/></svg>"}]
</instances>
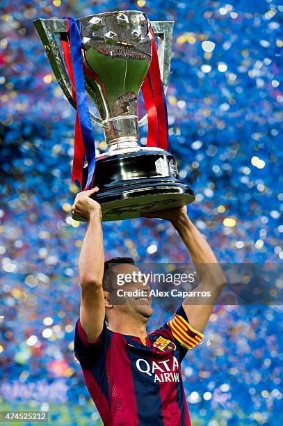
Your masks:
<instances>
[{"instance_id":1,"label":"smiling upturned face of the man beneath the trophy","mask_svg":"<svg viewBox=\"0 0 283 426\"><path fill-rule=\"evenodd\" d=\"M145 285L142 272L138 267L128 263L115 265L111 268L111 282L115 310L149 319L153 313L152 298L149 297L150 287ZM117 296L118 291L118 294L122 296Z\"/></svg>"}]
</instances>

